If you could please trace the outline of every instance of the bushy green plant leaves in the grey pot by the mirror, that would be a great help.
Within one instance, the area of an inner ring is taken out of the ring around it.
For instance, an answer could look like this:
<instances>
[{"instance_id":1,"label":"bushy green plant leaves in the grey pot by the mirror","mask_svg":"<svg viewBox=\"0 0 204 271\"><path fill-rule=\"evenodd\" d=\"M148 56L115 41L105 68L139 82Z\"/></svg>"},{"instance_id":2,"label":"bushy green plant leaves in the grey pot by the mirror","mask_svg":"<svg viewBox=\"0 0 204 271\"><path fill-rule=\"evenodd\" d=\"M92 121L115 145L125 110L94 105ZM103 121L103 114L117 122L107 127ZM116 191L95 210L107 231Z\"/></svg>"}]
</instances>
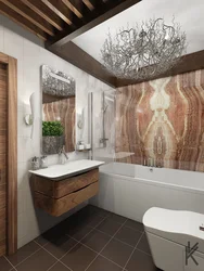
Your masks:
<instances>
[{"instance_id":1,"label":"bushy green plant leaves in the grey pot by the mirror","mask_svg":"<svg viewBox=\"0 0 204 271\"><path fill-rule=\"evenodd\" d=\"M63 133L61 121L42 121L42 137L61 137Z\"/></svg>"}]
</instances>

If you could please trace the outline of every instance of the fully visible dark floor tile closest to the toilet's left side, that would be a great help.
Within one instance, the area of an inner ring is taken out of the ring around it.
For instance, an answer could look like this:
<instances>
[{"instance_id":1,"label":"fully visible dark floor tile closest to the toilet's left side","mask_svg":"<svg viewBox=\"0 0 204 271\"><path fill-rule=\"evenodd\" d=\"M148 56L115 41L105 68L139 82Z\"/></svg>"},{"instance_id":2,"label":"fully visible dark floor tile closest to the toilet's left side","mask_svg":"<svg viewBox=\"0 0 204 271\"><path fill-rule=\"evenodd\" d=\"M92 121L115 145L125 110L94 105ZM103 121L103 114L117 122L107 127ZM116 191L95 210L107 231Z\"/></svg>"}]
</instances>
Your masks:
<instances>
[{"instance_id":1,"label":"fully visible dark floor tile closest to the toilet's left side","mask_svg":"<svg viewBox=\"0 0 204 271\"><path fill-rule=\"evenodd\" d=\"M132 230L131 228L123 227L117 232L115 237L127 243L130 246L136 246L141 235L142 233L139 231Z\"/></svg>"}]
</instances>

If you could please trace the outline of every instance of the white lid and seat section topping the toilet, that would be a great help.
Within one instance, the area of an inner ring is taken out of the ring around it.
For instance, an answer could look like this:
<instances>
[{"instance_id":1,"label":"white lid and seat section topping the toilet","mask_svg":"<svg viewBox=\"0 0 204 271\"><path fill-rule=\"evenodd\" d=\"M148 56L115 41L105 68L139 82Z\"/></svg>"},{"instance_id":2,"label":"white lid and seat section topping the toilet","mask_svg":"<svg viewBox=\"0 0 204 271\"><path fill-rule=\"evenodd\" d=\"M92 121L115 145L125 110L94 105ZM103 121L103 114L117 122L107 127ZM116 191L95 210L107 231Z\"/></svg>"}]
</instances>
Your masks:
<instances>
[{"instance_id":1,"label":"white lid and seat section topping the toilet","mask_svg":"<svg viewBox=\"0 0 204 271\"><path fill-rule=\"evenodd\" d=\"M143 216L146 232L187 246L200 243L197 251L204 254L204 215L193 211L169 210L153 207Z\"/></svg>"}]
</instances>

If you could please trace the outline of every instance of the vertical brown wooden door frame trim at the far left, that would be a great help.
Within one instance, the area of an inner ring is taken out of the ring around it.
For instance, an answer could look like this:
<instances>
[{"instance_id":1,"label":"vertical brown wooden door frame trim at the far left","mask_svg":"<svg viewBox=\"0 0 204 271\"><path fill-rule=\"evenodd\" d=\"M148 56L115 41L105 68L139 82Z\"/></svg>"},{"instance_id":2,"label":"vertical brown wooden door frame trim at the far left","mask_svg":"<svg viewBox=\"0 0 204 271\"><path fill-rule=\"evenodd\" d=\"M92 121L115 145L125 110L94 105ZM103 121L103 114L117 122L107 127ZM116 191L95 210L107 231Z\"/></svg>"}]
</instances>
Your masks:
<instances>
[{"instance_id":1,"label":"vertical brown wooden door frame trim at the far left","mask_svg":"<svg viewBox=\"0 0 204 271\"><path fill-rule=\"evenodd\" d=\"M17 250L17 61L8 64L8 254Z\"/></svg>"}]
</instances>

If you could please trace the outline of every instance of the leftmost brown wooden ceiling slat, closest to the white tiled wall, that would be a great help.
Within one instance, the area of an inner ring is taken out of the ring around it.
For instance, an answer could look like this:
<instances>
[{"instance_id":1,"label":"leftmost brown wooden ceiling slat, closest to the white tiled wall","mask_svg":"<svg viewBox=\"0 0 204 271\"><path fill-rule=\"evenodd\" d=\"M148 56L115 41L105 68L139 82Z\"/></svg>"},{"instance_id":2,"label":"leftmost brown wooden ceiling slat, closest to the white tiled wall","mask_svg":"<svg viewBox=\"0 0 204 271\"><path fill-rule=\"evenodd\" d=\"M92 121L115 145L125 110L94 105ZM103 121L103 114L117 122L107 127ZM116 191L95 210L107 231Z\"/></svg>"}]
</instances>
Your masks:
<instances>
[{"instance_id":1,"label":"leftmost brown wooden ceiling slat, closest to the white tiled wall","mask_svg":"<svg viewBox=\"0 0 204 271\"><path fill-rule=\"evenodd\" d=\"M35 14L31 9L22 3L20 0L0 0L4 4L7 4L10 9L18 13L21 16L28 20L30 23L49 34L50 36L54 36L54 28L41 16Z\"/></svg>"}]
</instances>

